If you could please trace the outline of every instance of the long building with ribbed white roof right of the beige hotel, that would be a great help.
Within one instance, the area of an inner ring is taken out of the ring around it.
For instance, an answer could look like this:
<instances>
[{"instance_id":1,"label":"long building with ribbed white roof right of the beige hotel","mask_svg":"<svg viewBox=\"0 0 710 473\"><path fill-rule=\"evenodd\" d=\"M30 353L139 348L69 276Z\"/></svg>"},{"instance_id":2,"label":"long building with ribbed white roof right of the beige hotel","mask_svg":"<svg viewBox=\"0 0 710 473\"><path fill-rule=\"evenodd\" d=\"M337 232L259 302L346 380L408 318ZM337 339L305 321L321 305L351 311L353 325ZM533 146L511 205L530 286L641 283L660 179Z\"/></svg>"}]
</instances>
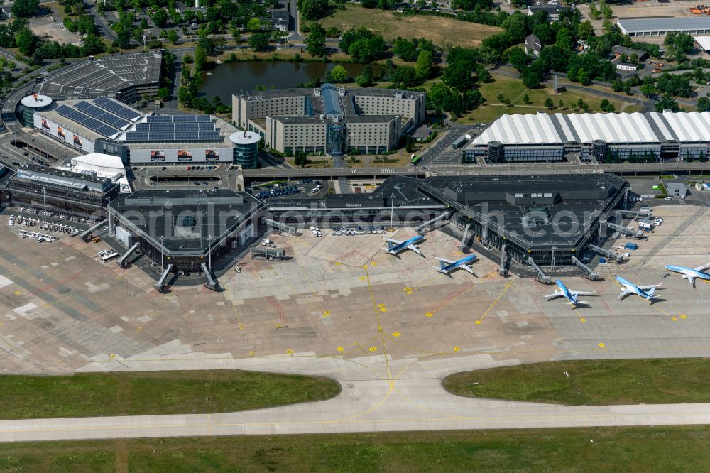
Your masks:
<instances>
[{"instance_id":1,"label":"long building with ribbed white roof right of the beige hotel","mask_svg":"<svg viewBox=\"0 0 710 473\"><path fill-rule=\"evenodd\" d=\"M707 156L710 112L503 115L463 150L465 162Z\"/></svg>"}]
</instances>

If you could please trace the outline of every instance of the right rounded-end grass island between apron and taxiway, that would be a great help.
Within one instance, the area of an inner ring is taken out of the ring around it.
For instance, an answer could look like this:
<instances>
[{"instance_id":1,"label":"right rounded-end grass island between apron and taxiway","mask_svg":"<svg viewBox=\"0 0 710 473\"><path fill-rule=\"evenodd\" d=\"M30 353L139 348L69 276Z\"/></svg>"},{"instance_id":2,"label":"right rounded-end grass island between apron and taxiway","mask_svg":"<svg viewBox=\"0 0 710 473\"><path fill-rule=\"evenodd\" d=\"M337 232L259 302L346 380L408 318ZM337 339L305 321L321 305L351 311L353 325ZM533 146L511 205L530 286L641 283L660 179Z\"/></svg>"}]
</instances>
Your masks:
<instances>
[{"instance_id":1,"label":"right rounded-end grass island between apron and taxiway","mask_svg":"<svg viewBox=\"0 0 710 473\"><path fill-rule=\"evenodd\" d=\"M444 388L459 396L569 406L706 403L710 359L550 361L452 374Z\"/></svg>"}]
</instances>

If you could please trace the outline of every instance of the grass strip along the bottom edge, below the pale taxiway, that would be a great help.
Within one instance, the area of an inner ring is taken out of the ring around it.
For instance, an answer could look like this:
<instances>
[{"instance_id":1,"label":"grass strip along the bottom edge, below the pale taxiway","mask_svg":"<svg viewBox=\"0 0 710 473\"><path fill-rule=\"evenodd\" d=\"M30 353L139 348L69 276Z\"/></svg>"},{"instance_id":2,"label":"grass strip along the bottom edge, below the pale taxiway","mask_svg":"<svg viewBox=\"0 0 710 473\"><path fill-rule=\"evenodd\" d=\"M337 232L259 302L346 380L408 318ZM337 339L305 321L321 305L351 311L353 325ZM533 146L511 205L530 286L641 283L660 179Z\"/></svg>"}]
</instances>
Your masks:
<instances>
[{"instance_id":1,"label":"grass strip along the bottom edge, below the pale taxiway","mask_svg":"<svg viewBox=\"0 0 710 473\"><path fill-rule=\"evenodd\" d=\"M13 443L0 471L702 472L709 444L705 426Z\"/></svg>"}]
</instances>

